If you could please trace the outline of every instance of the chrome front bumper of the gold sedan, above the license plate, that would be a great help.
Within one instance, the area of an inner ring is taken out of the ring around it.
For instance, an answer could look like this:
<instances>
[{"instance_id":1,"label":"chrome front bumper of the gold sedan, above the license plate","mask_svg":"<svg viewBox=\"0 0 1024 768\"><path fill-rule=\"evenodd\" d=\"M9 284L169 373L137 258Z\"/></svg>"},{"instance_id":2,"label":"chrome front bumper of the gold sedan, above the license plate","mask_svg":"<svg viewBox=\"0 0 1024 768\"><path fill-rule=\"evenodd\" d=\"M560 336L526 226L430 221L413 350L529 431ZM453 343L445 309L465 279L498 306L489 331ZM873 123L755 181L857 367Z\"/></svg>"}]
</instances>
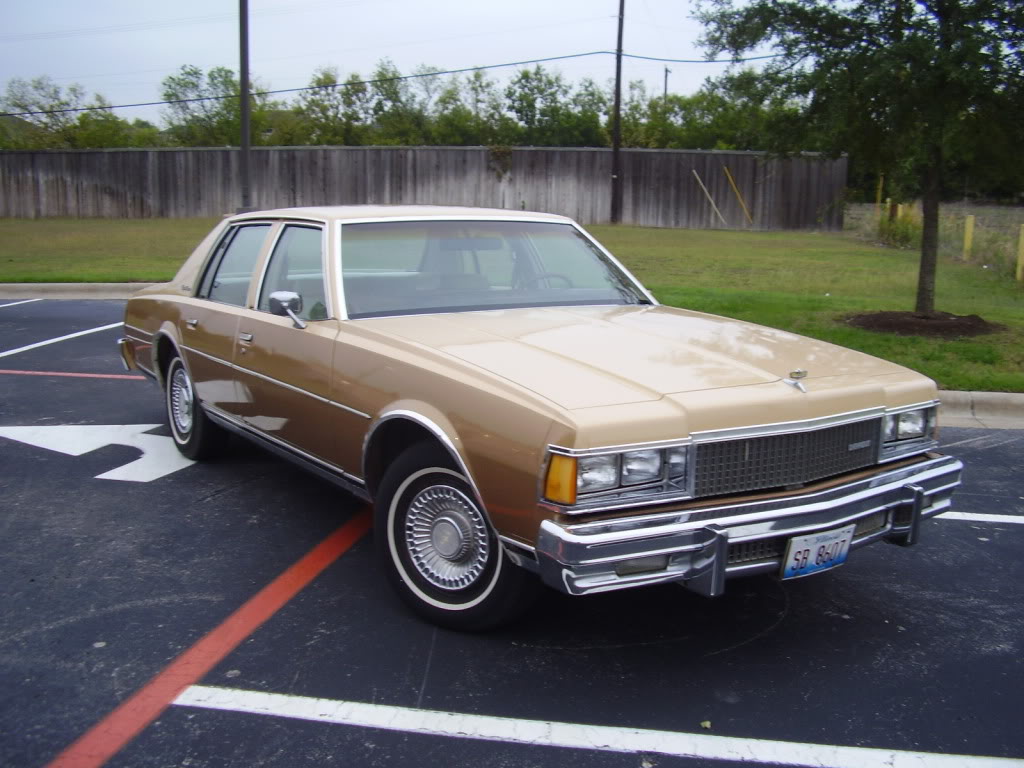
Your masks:
<instances>
[{"instance_id":1,"label":"chrome front bumper of the gold sedan, above the license plate","mask_svg":"<svg viewBox=\"0 0 1024 768\"><path fill-rule=\"evenodd\" d=\"M729 578L779 572L794 536L856 524L851 550L878 541L916 543L921 521L949 509L963 468L929 454L799 496L589 523L545 520L537 564L549 586L571 595L680 582L714 597Z\"/></svg>"}]
</instances>

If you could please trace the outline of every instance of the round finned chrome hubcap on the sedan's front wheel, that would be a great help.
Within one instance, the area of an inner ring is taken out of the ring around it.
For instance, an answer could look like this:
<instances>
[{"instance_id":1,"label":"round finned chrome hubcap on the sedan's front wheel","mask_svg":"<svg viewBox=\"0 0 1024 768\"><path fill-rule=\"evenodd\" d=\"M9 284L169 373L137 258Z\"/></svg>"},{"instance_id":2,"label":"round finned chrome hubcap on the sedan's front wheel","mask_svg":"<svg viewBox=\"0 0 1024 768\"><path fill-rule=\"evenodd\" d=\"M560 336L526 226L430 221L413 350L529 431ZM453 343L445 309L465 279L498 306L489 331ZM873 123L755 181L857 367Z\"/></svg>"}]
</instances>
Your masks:
<instances>
[{"instance_id":1,"label":"round finned chrome hubcap on the sedan's front wheel","mask_svg":"<svg viewBox=\"0 0 1024 768\"><path fill-rule=\"evenodd\" d=\"M443 590L476 582L490 552L480 510L450 485L431 485L413 499L406 515L406 546L420 575Z\"/></svg>"}]
</instances>

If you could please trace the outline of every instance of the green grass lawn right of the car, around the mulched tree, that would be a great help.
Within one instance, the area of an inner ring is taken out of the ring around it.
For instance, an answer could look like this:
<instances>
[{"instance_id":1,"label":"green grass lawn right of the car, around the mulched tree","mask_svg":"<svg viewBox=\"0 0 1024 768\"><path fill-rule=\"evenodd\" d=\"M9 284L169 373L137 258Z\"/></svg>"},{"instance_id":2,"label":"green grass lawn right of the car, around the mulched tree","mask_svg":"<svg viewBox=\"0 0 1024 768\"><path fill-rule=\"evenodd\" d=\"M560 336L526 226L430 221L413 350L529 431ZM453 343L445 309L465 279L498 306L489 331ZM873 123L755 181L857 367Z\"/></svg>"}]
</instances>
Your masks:
<instances>
[{"instance_id":1,"label":"green grass lawn right of the car, around the mulched tree","mask_svg":"<svg viewBox=\"0 0 1024 768\"><path fill-rule=\"evenodd\" d=\"M918 254L811 232L593 226L590 230L672 306L760 323L894 360L943 389L1024 392L1024 287L942 260L938 308L1007 330L945 341L846 325L850 314L912 309Z\"/></svg>"}]
</instances>

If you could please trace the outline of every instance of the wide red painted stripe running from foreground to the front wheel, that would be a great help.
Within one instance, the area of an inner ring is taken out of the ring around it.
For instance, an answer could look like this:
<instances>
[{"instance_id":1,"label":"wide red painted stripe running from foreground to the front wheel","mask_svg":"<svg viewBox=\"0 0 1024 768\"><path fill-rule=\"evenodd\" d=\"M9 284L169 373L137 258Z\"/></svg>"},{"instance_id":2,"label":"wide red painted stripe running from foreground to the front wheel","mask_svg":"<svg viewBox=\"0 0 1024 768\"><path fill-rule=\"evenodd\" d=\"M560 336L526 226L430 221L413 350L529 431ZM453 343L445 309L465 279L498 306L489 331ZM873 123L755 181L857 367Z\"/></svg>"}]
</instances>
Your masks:
<instances>
[{"instance_id":1,"label":"wide red painted stripe running from foreground to the front wheel","mask_svg":"<svg viewBox=\"0 0 1024 768\"><path fill-rule=\"evenodd\" d=\"M223 624L92 726L47 768L95 768L131 741L189 685L198 683L256 629L276 613L325 568L337 560L370 529L370 510L359 512L311 549Z\"/></svg>"}]
</instances>

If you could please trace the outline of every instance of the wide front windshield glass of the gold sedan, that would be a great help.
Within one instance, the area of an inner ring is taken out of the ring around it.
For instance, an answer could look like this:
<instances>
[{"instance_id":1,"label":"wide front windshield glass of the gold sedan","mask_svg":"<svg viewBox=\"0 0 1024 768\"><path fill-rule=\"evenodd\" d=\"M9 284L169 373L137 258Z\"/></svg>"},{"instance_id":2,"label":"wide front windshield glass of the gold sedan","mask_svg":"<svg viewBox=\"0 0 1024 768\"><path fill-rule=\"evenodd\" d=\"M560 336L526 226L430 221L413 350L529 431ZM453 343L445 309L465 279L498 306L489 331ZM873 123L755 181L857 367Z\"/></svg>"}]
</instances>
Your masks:
<instances>
[{"instance_id":1,"label":"wide front windshield glass of the gold sedan","mask_svg":"<svg viewBox=\"0 0 1024 768\"><path fill-rule=\"evenodd\" d=\"M574 304L646 304L575 227L556 222L345 224L349 317Z\"/></svg>"}]
</instances>

